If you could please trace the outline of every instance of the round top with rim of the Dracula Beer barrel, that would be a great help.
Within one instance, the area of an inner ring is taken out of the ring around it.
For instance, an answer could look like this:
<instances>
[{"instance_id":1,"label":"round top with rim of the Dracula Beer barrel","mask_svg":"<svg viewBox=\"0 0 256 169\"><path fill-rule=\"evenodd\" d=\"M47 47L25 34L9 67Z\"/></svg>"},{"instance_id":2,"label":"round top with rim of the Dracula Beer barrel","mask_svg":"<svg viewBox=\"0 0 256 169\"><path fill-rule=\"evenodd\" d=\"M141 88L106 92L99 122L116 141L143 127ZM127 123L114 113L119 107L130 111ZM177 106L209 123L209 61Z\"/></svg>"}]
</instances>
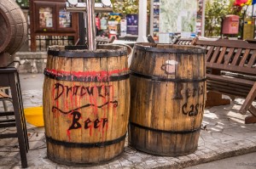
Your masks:
<instances>
[{"instance_id":1,"label":"round top with rim of the Dracula Beer barrel","mask_svg":"<svg viewBox=\"0 0 256 169\"><path fill-rule=\"evenodd\" d=\"M98 45L96 51L90 51L85 46L51 46L49 55L67 58L106 58L127 55L127 48L119 45Z\"/></svg>"}]
</instances>

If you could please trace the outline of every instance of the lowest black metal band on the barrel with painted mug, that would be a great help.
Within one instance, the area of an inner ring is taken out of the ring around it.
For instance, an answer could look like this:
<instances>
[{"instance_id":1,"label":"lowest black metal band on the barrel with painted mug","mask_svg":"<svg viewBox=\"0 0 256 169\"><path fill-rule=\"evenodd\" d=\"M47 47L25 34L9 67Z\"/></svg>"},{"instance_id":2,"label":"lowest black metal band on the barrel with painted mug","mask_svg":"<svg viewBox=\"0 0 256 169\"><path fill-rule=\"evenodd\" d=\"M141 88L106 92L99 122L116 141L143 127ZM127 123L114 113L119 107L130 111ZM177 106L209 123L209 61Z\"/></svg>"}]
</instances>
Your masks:
<instances>
[{"instance_id":1,"label":"lowest black metal band on the barrel with painted mug","mask_svg":"<svg viewBox=\"0 0 256 169\"><path fill-rule=\"evenodd\" d=\"M152 131L152 132L163 132L163 133L169 133L169 134L190 134L190 133L200 132L200 130L201 130L201 127L199 127L199 128L195 128L193 130L166 131L166 130L159 130L159 129L151 128L151 127L143 127L142 125L139 125L134 122L129 122L129 125L132 127L138 127L138 128L142 128L144 130Z\"/></svg>"}]
</instances>

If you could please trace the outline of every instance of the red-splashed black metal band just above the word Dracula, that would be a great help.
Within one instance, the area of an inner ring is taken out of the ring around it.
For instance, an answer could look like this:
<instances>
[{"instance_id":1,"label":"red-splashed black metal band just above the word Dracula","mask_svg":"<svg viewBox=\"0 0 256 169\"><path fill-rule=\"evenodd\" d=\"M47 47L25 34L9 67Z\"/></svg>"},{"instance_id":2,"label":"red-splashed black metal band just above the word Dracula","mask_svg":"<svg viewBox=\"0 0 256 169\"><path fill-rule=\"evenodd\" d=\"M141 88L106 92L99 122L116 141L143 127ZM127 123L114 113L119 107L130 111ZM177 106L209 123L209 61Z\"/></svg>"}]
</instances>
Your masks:
<instances>
[{"instance_id":1,"label":"red-splashed black metal band just above the word Dracula","mask_svg":"<svg viewBox=\"0 0 256 169\"><path fill-rule=\"evenodd\" d=\"M116 82L123 81L129 79L130 74L120 75L120 76L106 76L101 77L100 79L97 76L73 76L73 75L59 75L44 70L44 76L47 76L51 79L55 79L57 81L68 81L68 82Z\"/></svg>"}]
</instances>

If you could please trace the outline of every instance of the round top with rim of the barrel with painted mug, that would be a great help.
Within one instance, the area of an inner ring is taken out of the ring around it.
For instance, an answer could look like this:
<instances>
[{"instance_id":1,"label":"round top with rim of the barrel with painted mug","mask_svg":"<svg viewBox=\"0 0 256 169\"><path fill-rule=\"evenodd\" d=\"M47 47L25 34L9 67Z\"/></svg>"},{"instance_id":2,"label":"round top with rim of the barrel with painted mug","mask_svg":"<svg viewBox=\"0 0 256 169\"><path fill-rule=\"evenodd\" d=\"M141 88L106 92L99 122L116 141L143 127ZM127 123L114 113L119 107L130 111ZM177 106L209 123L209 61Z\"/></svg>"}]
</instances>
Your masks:
<instances>
[{"instance_id":1,"label":"round top with rim of the barrel with painted mug","mask_svg":"<svg viewBox=\"0 0 256 169\"><path fill-rule=\"evenodd\" d=\"M171 53L171 54L205 54L206 48L189 45L175 45L165 43L137 43L134 47L138 50L154 53Z\"/></svg>"}]
</instances>

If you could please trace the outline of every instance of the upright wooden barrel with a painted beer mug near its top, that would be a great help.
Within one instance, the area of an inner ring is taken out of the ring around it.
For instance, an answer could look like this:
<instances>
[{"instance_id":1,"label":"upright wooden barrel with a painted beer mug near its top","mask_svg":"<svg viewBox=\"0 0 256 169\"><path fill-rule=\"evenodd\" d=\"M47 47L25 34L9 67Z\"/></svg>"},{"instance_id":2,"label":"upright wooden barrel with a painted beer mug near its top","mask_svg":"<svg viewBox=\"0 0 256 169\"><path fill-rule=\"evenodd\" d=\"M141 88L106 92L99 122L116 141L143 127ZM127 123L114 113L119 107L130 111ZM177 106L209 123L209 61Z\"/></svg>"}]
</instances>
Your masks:
<instances>
[{"instance_id":1,"label":"upright wooden barrel with a painted beer mug near its top","mask_svg":"<svg viewBox=\"0 0 256 169\"><path fill-rule=\"evenodd\" d=\"M205 49L141 43L133 50L129 144L154 155L194 152L206 100Z\"/></svg>"}]
</instances>

